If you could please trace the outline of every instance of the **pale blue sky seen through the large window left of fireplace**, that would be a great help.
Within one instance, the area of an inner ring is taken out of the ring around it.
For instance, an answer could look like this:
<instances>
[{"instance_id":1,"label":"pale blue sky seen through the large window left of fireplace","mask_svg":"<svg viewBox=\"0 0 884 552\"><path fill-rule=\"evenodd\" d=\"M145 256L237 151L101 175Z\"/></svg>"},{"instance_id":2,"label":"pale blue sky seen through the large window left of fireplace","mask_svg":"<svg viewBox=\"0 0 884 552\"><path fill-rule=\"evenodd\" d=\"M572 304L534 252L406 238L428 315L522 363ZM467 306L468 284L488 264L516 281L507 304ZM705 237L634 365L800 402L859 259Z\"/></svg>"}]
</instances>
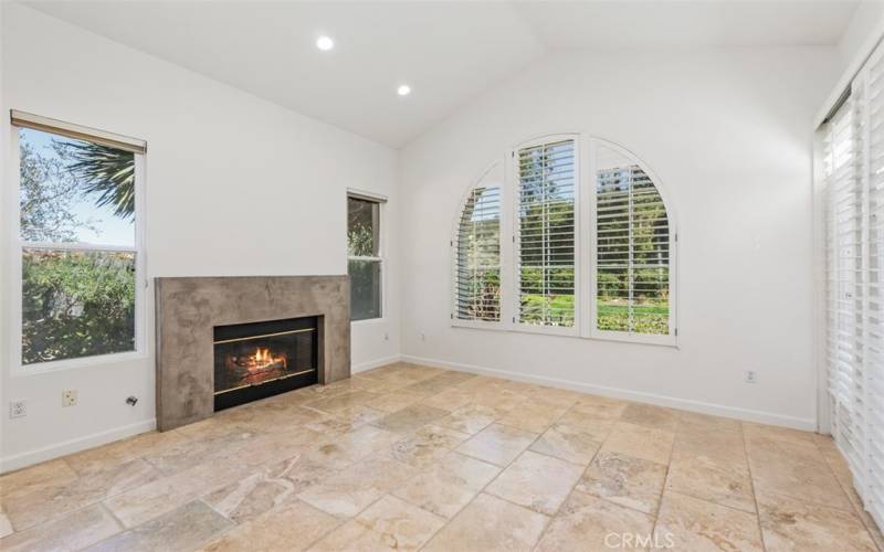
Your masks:
<instances>
[{"instance_id":1,"label":"pale blue sky seen through the large window left of fireplace","mask_svg":"<svg viewBox=\"0 0 884 552\"><path fill-rule=\"evenodd\" d=\"M53 141L63 144L80 142L78 140L30 128L19 129L19 140L20 147L30 145L35 156L50 162L57 162L63 169L70 161L59 155L53 147ZM50 176L49 178L55 177ZM80 185L78 188L82 190L84 187ZM80 222L70 229L73 231L74 242L112 246L135 245L135 223L133 219L124 219L114 214L112 205L97 205L96 200L98 197L96 194L78 191L72 193L72 195L65 209Z\"/></svg>"}]
</instances>

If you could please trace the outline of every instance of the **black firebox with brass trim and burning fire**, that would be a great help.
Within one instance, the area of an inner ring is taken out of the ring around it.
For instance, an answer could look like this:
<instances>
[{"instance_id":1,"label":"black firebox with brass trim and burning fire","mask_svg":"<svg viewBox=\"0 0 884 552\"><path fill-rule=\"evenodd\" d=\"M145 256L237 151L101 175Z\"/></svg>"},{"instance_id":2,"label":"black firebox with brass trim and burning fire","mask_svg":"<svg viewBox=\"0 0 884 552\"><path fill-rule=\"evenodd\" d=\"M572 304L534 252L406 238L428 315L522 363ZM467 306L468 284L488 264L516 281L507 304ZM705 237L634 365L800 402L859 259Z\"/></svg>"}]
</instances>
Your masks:
<instances>
[{"instance_id":1,"label":"black firebox with brass trim and burning fire","mask_svg":"<svg viewBox=\"0 0 884 552\"><path fill-rule=\"evenodd\" d=\"M318 381L318 317L214 327L214 410Z\"/></svg>"}]
</instances>

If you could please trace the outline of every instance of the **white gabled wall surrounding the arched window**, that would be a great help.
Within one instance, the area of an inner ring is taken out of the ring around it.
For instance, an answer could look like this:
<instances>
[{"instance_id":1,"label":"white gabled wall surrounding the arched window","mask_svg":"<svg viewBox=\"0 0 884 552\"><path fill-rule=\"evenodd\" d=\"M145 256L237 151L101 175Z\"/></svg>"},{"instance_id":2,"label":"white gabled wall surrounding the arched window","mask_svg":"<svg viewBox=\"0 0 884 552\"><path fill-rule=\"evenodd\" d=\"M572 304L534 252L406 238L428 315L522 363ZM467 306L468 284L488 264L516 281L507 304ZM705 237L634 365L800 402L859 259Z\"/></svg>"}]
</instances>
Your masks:
<instances>
[{"instance_id":1,"label":"white gabled wall surrounding the arched window","mask_svg":"<svg viewBox=\"0 0 884 552\"><path fill-rule=\"evenodd\" d=\"M814 428L812 118L836 57L557 53L433 128L400 158L406 358ZM449 240L464 190L507 148L564 131L625 146L667 189L678 349L451 327Z\"/></svg>"}]
</instances>

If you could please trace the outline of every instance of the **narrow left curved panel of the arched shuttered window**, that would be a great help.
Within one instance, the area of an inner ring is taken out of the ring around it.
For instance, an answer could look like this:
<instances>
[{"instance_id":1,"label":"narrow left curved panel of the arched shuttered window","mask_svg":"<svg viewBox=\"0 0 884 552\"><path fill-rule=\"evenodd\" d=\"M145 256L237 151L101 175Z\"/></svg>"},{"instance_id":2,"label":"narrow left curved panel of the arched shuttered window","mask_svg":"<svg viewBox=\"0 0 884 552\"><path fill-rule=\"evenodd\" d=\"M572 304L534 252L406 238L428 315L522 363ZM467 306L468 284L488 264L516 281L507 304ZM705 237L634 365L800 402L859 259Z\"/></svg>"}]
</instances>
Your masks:
<instances>
[{"instance_id":1,"label":"narrow left curved panel of the arched shuttered window","mask_svg":"<svg viewBox=\"0 0 884 552\"><path fill-rule=\"evenodd\" d=\"M501 185L490 170L463 202L454 248L454 316L501 320Z\"/></svg>"}]
</instances>

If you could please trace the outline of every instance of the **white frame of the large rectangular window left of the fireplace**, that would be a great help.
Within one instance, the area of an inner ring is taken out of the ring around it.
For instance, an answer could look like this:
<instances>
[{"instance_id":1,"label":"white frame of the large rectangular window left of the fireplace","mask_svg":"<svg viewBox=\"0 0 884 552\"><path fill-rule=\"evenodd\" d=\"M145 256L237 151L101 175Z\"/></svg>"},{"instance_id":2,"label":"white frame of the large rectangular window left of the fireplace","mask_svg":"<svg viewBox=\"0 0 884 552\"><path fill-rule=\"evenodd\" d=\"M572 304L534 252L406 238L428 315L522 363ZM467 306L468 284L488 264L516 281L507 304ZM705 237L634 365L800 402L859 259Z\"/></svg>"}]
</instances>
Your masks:
<instances>
[{"instance_id":1,"label":"white frame of the large rectangular window left of the fireplace","mask_svg":"<svg viewBox=\"0 0 884 552\"><path fill-rule=\"evenodd\" d=\"M90 137L95 137L95 142L102 144L103 140L110 137L119 137L120 142L130 141L131 139L122 135L115 135L104 130L96 130L81 125L73 125L70 123L55 121L40 117L40 119L54 123L54 127L63 130L76 130L81 136L76 139L82 141L90 141ZM114 246L101 245L94 243L67 243L67 242L28 242L21 237L21 213L19 211L20 197L21 197L21 182L20 182L20 167L21 153L19 142L19 129L29 128L25 125L10 124L10 141L9 141L9 181L13 184L8 189L8 240L7 242L7 258L9 259L9 274L8 274L8 293L10 296L10 307L8 319L10 320L10 374L13 378L36 375L46 372L56 372L72 369L80 369L85 367L97 367L104 364L130 362L135 360L147 359L147 326L148 312L145 308L146 295L149 286L147 275L147 233L146 233L146 216L145 216L145 157L146 152L133 152L135 162L135 217L134 225L134 242L131 246ZM63 132L53 128L41 128L44 132L64 136ZM108 354L92 354L88 357L77 357L73 359L51 360L45 362L35 362L33 364L24 364L22 362L22 255L25 248L31 250L53 250L53 251L85 251L85 252L127 252L135 255L135 336L134 348L131 351L115 352Z\"/></svg>"}]
</instances>

